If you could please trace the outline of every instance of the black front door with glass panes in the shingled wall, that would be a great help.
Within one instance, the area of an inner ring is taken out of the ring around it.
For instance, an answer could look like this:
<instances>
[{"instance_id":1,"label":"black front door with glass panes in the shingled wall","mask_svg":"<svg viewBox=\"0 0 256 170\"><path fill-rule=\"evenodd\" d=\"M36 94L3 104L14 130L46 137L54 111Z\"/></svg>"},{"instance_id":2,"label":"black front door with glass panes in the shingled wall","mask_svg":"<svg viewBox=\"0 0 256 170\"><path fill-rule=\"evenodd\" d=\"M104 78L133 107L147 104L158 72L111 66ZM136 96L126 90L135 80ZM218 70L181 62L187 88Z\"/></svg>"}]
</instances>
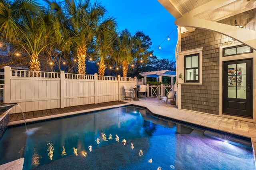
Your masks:
<instances>
[{"instance_id":1,"label":"black front door with glass panes in the shingled wall","mask_svg":"<svg viewBox=\"0 0 256 170\"><path fill-rule=\"evenodd\" d=\"M223 114L252 118L252 59L223 63Z\"/></svg>"}]
</instances>

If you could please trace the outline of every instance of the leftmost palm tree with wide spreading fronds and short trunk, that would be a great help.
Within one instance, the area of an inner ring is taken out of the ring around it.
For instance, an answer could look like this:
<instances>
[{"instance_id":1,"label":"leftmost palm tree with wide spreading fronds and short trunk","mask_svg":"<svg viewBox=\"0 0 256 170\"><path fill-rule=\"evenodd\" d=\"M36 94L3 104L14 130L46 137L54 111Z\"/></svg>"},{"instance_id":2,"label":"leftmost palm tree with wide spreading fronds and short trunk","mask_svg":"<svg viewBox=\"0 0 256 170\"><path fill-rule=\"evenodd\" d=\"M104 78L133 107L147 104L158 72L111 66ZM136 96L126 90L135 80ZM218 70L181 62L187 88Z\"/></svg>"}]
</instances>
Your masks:
<instances>
[{"instance_id":1,"label":"leftmost palm tree with wide spreading fronds and short trunk","mask_svg":"<svg viewBox=\"0 0 256 170\"><path fill-rule=\"evenodd\" d=\"M45 13L35 0L1 0L0 7L1 38L26 51L30 70L40 71L38 55L48 45L47 38L58 30L52 12Z\"/></svg>"}]
</instances>

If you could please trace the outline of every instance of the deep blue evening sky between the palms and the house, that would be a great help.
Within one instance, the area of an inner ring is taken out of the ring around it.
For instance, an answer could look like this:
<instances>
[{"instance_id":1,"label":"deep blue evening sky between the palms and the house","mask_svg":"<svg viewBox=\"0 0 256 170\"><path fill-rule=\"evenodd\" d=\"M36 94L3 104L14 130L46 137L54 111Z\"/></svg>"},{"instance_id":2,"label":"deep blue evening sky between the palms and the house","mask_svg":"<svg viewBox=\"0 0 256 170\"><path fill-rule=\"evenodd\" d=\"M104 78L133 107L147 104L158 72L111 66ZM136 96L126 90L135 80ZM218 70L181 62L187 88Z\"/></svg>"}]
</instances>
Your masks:
<instances>
[{"instance_id":1,"label":"deep blue evening sky between the palms and the house","mask_svg":"<svg viewBox=\"0 0 256 170\"><path fill-rule=\"evenodd\" d=\"M152 40L151 50L172 32L176 26L175 18L157 0L98 0L114 16L118 30L127 28L132 34L143 31ZM175 60L177 29L170 35L170 41L164 41L161 49L156 48L154 55Z\"/></svg>"}]
</instances>

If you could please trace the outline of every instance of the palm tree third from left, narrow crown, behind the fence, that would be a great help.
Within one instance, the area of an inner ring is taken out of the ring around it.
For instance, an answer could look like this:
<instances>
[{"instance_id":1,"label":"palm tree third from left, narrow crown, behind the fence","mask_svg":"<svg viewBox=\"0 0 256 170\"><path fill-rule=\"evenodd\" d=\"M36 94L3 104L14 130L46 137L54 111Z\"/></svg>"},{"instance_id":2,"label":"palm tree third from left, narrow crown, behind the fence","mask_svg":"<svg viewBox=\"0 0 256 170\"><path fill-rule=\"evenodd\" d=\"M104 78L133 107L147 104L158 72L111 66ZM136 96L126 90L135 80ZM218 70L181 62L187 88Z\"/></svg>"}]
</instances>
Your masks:
<instances>
[{"instance_id":1,"label":"palm tree third from left, narrow crown, behind the fence","mask_svg":"<svg viewBox=\"0 0 256 170\"><path fill-rule=\"evenodd\" d=\"M106 18L96 29L96 53L100 58L99 75L105 74L106 59L112 52L112 43L116 37L116 22L114 18Z\"/></svg>"}]
</instances>

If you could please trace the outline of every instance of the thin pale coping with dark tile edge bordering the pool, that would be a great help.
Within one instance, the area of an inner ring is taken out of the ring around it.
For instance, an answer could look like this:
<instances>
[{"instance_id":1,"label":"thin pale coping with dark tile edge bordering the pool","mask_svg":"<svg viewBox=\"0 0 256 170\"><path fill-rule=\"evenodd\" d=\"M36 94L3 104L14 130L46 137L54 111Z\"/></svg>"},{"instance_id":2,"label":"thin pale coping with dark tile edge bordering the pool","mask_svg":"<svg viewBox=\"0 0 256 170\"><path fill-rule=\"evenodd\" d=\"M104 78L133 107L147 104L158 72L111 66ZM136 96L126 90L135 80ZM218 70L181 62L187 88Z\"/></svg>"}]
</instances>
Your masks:
<instances>
[{"instance_id":1,"label":"thin pale coping with dark tile edge bordering the pool","mask_svg":"<svg viewBox=\"0 0 256 170\"><path fill-rule=\"evenodd\" d=\"M88 109L88 110L82 110L82 111L62 113L62 114L58 114L58 115L50 115L50 116L46 116L46 117L32 118L32 119L27 119L26 123L31 124L31 123L38 123L38 122L43 122L43 121L50 121L50 120L54 120L54 119L61 119L61 118L64 118L64 117L72 117L72 116L75 116L75 115L83 115L83 114L87 114L87 113L94 113L96 111L103 111L103 110L126 107L126 106L135 106L135 107L137 106L137 107L141 107L143 109L147 109L152 116L157 117L157 118L167 119L167 120L170 120L170 121L176 121L178 123L183 123L183 124L186 124L186 125L190 125L190 126L202 128L202 129L205 129L205 130L210 130L210 131L213 131L213 132L217 132L217 133L220 133L220 134L226 134L226 135L229 135L229 136L233 136L235 138L240 138L240 139L243 139L243 140L251 141L252 142L252 148L253 148L253 154L254 154L254 161L255 161L255 164L256 164L256 137L241 135L241 134L237 134L235 132L230 133L225 129L218 130L214 127L210 127L210 126L207 126L207 125L202 126L202 125L197 124L196 121L192 122L192 121L178 120L178 119L175 119L175 118L171 117L170 115L163 116L163 115L154 113L153 111L148 109L148 107L145 107L145 106L140 105L138 103L136 103L136 104L134 104L134 103L125 103L125 104L114 105L114 106L107 106L107 107L100 107L100 108L95 108L95 109ZM16 127L16 126L21 126L21 125L24 125L24 120L10 122L8 124L8 127Z\"/></svg>"}]
</instances>

